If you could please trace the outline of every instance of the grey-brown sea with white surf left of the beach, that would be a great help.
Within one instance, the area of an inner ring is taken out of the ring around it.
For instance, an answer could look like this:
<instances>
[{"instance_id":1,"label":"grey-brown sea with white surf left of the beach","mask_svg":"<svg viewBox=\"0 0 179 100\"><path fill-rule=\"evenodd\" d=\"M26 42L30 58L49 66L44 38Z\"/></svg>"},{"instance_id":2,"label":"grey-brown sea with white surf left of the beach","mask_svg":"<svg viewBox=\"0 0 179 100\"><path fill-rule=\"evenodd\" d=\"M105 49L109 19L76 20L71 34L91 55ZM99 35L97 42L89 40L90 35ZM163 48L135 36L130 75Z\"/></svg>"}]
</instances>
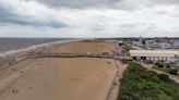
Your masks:
<instances>
[{"instance_id":1,"label":"grey-brown sea with white surf left of the beach","mask_svg":"<svg viewBox=\"0 0 179 100\"><path fill-rule=\"evenodd\" d=\"M70 38L0 38L0 55L48 42L72 40Z\"/></svg>"}]
</instances>

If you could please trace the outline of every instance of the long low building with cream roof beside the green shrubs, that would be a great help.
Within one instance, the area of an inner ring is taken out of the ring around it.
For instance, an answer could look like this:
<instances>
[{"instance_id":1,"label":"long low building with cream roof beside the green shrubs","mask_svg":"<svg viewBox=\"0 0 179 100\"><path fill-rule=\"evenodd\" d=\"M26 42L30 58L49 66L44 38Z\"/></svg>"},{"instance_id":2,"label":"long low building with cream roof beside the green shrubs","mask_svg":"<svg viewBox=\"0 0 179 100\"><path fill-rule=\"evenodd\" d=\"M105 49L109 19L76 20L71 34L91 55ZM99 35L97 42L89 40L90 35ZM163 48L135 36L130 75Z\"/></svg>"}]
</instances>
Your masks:
<instances>
[{"instance_id":1,"label":"long low building with cream roof beside the green shrubs","mask_svg":"<svg viewBox=\"0 0 179 100\"><path fill-rule=\"evenodd\" d=\"M175 61L179 50L130 50L134 60Z\"/></svg>"}]
</instances>

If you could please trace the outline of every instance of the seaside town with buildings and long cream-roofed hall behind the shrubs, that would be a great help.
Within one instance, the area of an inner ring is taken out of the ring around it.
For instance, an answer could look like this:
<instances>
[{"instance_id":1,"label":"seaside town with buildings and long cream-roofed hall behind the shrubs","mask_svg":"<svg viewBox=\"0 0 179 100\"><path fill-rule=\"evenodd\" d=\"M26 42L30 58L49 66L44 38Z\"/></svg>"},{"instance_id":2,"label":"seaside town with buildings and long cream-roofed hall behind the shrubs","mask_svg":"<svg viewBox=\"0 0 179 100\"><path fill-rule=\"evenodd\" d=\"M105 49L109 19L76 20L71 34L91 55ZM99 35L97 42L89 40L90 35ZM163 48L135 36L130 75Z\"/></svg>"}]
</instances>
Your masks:
<instances>
[{"instance_id":1,"label":"seaside town with buildings and long cream-roofed hall behind the shrubs","mask_svg":"<svg viewBox=\"0 0 179 100\"><path fill-rule=\"evenodd\" d=\"M179 38L120 38L112 42L118 58L151 64L151 68L178 75Z\"/></svg>"}]
</instances>

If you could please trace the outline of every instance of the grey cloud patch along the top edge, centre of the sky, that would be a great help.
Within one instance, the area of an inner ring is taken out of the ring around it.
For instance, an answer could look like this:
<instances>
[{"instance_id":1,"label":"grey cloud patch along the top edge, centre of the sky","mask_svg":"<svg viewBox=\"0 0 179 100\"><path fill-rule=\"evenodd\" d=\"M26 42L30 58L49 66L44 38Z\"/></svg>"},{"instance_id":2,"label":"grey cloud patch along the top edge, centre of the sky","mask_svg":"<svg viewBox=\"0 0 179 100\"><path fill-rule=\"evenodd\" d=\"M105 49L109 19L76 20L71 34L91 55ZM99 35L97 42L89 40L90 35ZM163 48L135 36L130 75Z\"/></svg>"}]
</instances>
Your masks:
<instances>
[{"instance_id":1,"label":"grey cloud patch along the top edge, centre of the sky","mask_svg":"<svg viewBox=\"0 0 179 100\"><path fill-rule=\"evenodd\" d=\"M110 8L116 2L124 0L27 0L38 1L50 8L73 8L73 9L85 9L85 8Z\"/></svg>"}]
</instances>

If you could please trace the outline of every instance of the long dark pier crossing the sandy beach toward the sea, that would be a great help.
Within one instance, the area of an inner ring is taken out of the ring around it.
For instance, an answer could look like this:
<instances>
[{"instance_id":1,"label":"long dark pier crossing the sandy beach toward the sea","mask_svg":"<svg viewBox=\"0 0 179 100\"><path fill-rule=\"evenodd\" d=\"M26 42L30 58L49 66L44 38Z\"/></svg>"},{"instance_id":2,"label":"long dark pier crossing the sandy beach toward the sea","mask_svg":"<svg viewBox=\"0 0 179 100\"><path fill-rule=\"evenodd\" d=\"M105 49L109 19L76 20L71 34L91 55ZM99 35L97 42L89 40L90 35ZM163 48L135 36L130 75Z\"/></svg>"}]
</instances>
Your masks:
<instances>
[{"instance_id":1,"label":"long dark pier crossing the sandy beach toward the sea","mask_svg":"<svg viewBox=\"0 0 179 100\"><path fill-rule=\"evenodd\" d=\"M0 60L0 70L14 65L27 59L38 58L100 58L100 59L130 59L129 57L120 57L112 52L85 52L85 53L70 53L70 52L44 52L46 48L40 48L32 52L27 52L23 57L5 58Z\"/></svg>"}]
</instances>

